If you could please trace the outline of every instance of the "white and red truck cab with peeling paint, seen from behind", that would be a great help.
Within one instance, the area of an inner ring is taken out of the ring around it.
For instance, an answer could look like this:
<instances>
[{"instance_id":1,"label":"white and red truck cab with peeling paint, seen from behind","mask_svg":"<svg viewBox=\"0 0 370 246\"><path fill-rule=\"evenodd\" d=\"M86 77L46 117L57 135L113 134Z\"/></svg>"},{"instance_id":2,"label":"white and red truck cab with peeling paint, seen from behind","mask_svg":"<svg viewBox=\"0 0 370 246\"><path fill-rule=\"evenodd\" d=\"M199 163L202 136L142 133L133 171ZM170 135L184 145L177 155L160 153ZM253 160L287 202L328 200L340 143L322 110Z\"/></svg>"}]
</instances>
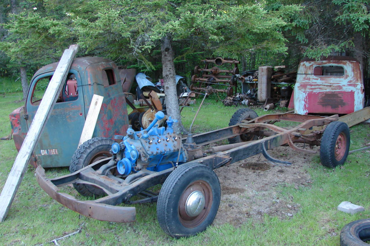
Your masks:
<instances>
[{"instance_id":1,"label":"white and red truck cab with peeling paint, seen from behind","mask_svg":"<svg viewBox=\"0 0 370 246\"><path fill-rule=\"evenodd\" d=\"M314 75L314 68L343 67L343 75ZM350 57L303 60L294 88L296 114L349 114L363 108L364 86L360 64Z\"/></svg>"}]
</instances>

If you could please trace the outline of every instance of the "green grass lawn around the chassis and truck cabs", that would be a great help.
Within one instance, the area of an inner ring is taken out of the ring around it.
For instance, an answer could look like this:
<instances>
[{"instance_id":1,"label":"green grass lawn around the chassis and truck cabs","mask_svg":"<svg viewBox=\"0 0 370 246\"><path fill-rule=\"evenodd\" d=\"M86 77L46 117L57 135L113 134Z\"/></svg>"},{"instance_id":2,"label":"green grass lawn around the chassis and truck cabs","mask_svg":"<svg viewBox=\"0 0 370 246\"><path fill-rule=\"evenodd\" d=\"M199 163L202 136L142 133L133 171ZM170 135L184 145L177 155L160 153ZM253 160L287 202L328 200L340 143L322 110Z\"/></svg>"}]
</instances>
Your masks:
<instances>
[{"instance_id":1,"label":"green grass lawn around the chassis and truck cabs","mask_svg":"<svg viewBox=\"0 0 370 246\"><path fill-rule=\"evenodd\" d=\"M20 99L20 92L0 95L1 137L10 133L8 115L23 105L16 102ZM196 109L184 109L182 120L186 128ZM206 100L193 132L226 127L236 110L224 107L221 102ZM259 115L266 113L261 109L256 111ZM359 124L350 130L350 150L370 142L369 124ZM318 154L309 155L307 171L313 181L311 186L296 189L282 184L274 187L283 197L292 197L293 202L301 205L299 212L290 219L265 216L263 222L247 220L238 228L228 224L210 226L197 236L178 240L166 236L159 227L156 203L135 205L137 220L132 223L87 218L50 198L38 186L34 168L28 167L9 214L1 223L0 244L38 245L81 229L80 233L59 240L59 245L339 245L340 230L345 224L370 217L369 153L369 150L355 152L349 155L343 168L336 169L323 168ZM0 141L1 189L16 155L13 140ZM68 173L67 168L54 168L49 169L47 175L64 173ZM345 200L364 206L365 211L356 215L337 211L336 206Z\"/></svg>"}]
</instances>

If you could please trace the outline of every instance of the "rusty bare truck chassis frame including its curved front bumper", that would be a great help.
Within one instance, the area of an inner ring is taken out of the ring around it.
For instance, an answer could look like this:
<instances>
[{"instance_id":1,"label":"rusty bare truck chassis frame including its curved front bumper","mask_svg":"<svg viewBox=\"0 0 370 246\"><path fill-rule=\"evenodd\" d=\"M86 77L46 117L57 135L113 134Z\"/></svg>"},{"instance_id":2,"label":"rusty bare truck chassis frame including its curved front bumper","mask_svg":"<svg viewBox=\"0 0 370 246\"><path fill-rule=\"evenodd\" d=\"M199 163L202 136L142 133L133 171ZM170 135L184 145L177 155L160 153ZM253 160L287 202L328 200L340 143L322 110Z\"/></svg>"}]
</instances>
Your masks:
<instances>
[{"instance_id":1,"label":"rusty bare truck chassis frame including its curved front bumper","mask_svg":"<svg viewBox=\"0 0 370 246\"><path fill-rule=\"evenodd\" d=\"M279 120L303 122L292 129L284 129L265 123ZM226 151L216 152L215 154L187 162L186 164L201 163L211 167L212 169L216 169L223 165L231 164L260 153L262 153L269 161L290 164L289 162L279 161L272 158L267 153L267 150L288 144L297 151L305 151L305 149L301 149L293 145L293 142L299 142L300 139L305 140L305 138L310 142L308 139L316 139L316 137L320 138L320 134L322 134L320 131L313 131L308 135L305 135L305 132L309 128L325 126L336 120L338 120L338 115L317 117L312 115L295 115L289 113L274 114L261 116L238 125L194 135L193 139L196 144L206 145L218 140L235 137L236 135L248 132L248 130L253 131L256 134L257 132L255 129L258 129L259 131L260 128L268 128L274 132L273 135L270 135L269 137L245 142L243 145L232 145L231 148ZM183 141L186 141L186 139ZM311 141L311 143L317 144L317 141ZM233 146L236 147L233 148ZM108 163L102 165L105 161L108 161ZM128 204L135 203L130 202L130 198L132 198L132 196L138 195L140 192L143 192L145 189L154 185L163 183L167 176L174 171L174 167L160 172L139 171L135 174L129 175L126 179L121 179L113 175L108 175L108 173L110 173L110 169L115 165L116 164L111 157L105 158L74 173L51 179L48 179L45 175L44 169L41 166L38 166L36 169L36 178L41 188L43 188L48 195L67 208L74 210L81 215L104 221L132 222L135 220L135 207L122 207L115 205L122 202ZM71 183L94 185L103 189L107 193L107 196L95 200L82 201L76 199L74 196L59 191L58 187ZM152 198L153 199L147 200L155 200L154 197Z\"/></svg>"}]
</instances>

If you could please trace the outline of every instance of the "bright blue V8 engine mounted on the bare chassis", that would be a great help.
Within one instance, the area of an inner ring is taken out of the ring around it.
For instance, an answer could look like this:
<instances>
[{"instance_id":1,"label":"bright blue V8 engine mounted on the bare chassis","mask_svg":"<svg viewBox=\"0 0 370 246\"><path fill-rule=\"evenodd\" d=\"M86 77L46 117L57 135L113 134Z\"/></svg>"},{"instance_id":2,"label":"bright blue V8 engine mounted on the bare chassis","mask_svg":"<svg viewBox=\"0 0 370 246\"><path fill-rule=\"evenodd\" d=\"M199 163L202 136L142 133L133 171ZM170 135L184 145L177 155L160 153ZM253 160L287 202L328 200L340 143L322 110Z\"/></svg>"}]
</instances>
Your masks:
<instances>
[{"instance_id":1,"label":"bright blue V8 engine mounted on the bare chassis","mask_svg":"<svg viewBox=\"0 0 370 246\"><path fill-rule=\"evenodd\" d=\"M147 129L134 131L128 128L123 141L112 145L112 152L117 155L117 169L120 174L128 175L142 169L159 172L171 168L176 162L186 162L187 152L181 148L181 139L172 128L177 120L169 117L166 121L167 128L158 127L157 121L163 118L164 113L158 111ZM123 158L120 159L119 156Z\"/></svg>"}]
</instances>

